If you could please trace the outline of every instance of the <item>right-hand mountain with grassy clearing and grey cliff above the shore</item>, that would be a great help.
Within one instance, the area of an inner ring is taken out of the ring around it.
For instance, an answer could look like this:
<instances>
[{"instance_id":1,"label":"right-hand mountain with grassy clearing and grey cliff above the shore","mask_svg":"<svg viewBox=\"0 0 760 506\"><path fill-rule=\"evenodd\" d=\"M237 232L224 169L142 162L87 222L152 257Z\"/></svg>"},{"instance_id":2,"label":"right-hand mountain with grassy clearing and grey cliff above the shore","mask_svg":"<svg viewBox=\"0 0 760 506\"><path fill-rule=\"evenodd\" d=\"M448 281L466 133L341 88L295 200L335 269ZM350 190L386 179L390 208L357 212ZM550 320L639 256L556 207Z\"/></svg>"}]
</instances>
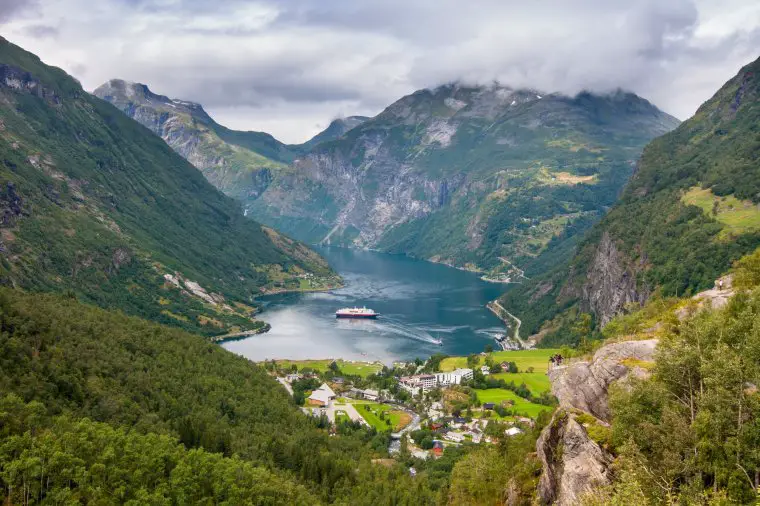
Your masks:
<instances>
[{"instance_id":1,"label":"right-hand mountain with grassy clearing and grey cliff above the shore","mask_svg":"<svg viewBox=\"0 0 760 506\"><path fill-rule=\"evenodd\" d=\"M652 294L696 293L757 247L759 98L760 59L647 145L620 201L569 265L504 297L523 331L545 325L545 332L554 329L547 344L568 339L564 324L580 313L593 314L601 327Z\"/></svg>"}]
</instances>

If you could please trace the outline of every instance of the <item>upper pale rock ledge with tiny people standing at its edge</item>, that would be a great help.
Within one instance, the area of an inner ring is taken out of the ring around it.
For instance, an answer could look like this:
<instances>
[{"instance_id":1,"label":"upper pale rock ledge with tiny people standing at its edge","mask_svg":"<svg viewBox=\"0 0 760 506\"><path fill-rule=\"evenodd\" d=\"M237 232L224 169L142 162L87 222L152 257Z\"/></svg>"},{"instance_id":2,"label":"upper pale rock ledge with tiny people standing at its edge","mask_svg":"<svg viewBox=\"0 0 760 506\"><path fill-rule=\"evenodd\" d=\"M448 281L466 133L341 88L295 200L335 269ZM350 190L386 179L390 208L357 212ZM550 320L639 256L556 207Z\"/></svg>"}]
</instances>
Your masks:
<instances>
[{"instance_id":1,"label":"upper pale rock ledge with tiny people standing at its edge","mask_svg":"<svg viewBox=\"0 0 760 506\"><path fill-rule=\"evenodd\" d=\"M643 374L637 361L651 362L657 339L608 344L594 354L591 362L574 362L549 371L552 393L562 408L575 408L609 421L607 389L631 371Z\"/></svg>"}]
</instances>

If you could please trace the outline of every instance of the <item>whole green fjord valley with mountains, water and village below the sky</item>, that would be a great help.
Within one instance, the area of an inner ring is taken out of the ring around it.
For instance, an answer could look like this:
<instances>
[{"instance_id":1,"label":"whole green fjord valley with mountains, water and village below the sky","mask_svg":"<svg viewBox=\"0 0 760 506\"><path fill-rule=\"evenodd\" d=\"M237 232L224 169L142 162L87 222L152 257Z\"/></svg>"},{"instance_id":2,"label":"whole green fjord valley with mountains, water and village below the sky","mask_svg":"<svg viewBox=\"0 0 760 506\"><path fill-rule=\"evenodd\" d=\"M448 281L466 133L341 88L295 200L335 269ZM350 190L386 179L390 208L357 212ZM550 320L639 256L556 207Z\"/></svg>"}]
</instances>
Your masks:
<instances>
[{"instance_id":1,"label":"whole green fjord valley with mountains, water and village below the sky","mask_svg":"<svg viewBox=\"0 0 760 506\"><path fill-rule=\"evenodd\" d=\"M454 81L286 144L0 37L0 503L756 502L759 104Z\"/></svg>"}]
</instances>

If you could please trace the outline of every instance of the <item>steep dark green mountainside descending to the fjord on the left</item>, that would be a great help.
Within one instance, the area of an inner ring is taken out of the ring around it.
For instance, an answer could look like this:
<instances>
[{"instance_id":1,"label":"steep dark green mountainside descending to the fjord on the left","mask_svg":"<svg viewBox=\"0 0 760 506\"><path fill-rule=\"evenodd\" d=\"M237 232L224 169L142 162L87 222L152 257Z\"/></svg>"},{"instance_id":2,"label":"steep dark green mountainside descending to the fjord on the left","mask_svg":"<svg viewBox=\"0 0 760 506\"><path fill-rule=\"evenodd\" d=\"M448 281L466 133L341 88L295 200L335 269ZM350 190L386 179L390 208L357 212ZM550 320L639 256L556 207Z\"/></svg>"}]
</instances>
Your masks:
<instances>
[{"instance_id":1,"label":"steep dark green mountainside descending to the fjord on the left","mask_svg":"<svg viewBox=\"0 0 760 506\"><path fill-rule=\"evenodd\" d=\"M4 284L204 334L261 329L261 293L337 282L149 130L5 39L0 216Z\"/></svg>"}]
</instances>

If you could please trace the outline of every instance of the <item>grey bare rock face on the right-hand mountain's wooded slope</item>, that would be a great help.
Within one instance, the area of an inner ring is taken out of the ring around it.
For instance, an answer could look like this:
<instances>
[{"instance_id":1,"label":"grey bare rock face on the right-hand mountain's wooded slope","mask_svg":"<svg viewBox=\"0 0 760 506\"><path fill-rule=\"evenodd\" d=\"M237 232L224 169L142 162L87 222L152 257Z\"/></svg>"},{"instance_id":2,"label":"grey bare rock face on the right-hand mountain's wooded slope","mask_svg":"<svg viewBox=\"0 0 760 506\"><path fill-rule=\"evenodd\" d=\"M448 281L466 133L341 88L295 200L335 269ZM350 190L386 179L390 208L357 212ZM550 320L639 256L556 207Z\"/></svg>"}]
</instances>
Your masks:
<instances>
[{"instance_id":1,"label":"grey bare rock face on the right-hand mountain's wooded slope","mask_svg":"<svg viewBox=\"0 0 760 506\"><path fill-rule=\"evenodd\" d=\"M649 298L649 290L637 286L638 269L629 264L610 234L605 232L589 268L588 281L583 286L583 300L602 326L620 313L626 304L642 304Z\"/></svg>"}]
</instances>

